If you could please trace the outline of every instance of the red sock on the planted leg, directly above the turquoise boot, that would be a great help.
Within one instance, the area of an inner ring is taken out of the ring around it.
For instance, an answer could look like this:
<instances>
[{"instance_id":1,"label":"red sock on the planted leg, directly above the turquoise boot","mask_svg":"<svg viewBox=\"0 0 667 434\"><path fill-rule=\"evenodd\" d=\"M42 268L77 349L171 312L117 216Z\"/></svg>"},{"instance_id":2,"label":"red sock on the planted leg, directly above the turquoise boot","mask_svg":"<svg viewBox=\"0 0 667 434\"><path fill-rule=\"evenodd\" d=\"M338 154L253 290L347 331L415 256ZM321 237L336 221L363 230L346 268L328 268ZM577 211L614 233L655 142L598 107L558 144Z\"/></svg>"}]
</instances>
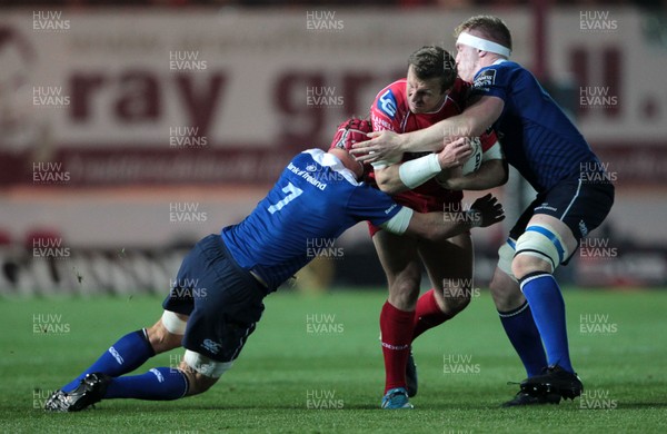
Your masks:
<instances>
[{"instance_id":1,"label":"red sock on the planted leg, directly above the turquoise boot","mask_svg":"<svg viewBox=\"0 0 667 434\"><path fill-rule=\"evenodd\" d=\"M415 312L399 310L386 302L380 313L382 356L385 357L385 393L406 387L406 365L410 355Z\"/></svg>"}]
</instances>

